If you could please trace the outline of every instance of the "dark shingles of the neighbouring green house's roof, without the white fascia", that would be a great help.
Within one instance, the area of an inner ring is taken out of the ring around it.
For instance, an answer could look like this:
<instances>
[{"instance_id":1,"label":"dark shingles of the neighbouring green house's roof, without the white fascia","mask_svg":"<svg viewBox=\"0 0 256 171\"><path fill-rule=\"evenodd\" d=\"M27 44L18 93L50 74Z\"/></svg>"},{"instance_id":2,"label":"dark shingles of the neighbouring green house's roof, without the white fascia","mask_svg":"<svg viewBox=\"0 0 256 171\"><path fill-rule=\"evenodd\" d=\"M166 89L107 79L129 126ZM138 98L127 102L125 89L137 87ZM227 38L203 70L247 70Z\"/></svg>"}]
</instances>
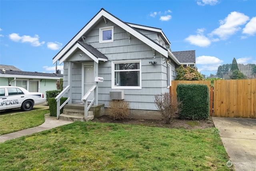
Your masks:
<instances>
[{"instance_id":1,"label":"dark shingles of the neighbouring green house's roof, without the white fascia","mask_svg":"<svg viewBox=\"0 0 256 171\"><path fill-rule=\"evenodd\" d=\"M4 74L4 72L2 70L0 70L0 74ZM22 75L22 76L63 77L63 74L55 74L55 73L52 74L52 73L43 73L43 72L26 72L26 71L10 71L10 70L6 70L5 74Z\"/></svg>"}]
</instances>

